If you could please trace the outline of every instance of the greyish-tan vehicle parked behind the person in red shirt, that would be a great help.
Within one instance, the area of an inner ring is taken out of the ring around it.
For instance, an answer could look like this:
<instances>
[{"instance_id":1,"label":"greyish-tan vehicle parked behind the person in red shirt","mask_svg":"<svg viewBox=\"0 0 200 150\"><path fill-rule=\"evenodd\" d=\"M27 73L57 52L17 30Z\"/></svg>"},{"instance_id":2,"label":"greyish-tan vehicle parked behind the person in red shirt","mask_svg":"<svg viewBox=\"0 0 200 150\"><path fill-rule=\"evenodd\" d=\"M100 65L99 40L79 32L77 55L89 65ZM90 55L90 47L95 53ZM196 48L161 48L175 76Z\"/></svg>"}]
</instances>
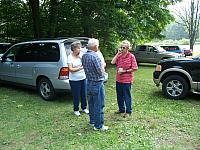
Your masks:
<instances>
[{"instance_id":1,"label":"greyish-tan vehicle parked behind the person in red shirt","mask_svg":"<svg viewBox=\"0 0 200 150\"><path fill-rule=\"evenodd\" d=\"M167 52L160 46L138 45L133 51L137 63L158 63L162 59L180 58L181 54Z\"/></svg>"}]
</instances>

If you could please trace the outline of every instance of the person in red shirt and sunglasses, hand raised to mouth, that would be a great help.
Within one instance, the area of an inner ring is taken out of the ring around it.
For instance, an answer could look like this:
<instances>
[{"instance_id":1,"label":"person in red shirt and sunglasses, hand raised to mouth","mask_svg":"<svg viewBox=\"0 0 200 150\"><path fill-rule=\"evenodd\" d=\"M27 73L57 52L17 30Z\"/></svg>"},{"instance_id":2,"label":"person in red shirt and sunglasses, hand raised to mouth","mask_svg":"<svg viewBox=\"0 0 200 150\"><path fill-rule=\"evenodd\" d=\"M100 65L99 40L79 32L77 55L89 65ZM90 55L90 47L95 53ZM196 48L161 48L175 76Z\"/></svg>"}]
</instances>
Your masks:
<instances>
[{"instance_id":1,"label":"person in red shirt and sunglasses, hand raised to mouth","mask_svg":"<svg viewBox=\"0 0 200 150\"><path fill-rule=\"evenodd\" d=\"M130 42L121 42L121 50L114 56L111 63L116 64L116 93L118 112L129 116L132 113L131 84L133 83L133 72L138 69L135 56L129 52Z\"/></svg>"}]
</instances>

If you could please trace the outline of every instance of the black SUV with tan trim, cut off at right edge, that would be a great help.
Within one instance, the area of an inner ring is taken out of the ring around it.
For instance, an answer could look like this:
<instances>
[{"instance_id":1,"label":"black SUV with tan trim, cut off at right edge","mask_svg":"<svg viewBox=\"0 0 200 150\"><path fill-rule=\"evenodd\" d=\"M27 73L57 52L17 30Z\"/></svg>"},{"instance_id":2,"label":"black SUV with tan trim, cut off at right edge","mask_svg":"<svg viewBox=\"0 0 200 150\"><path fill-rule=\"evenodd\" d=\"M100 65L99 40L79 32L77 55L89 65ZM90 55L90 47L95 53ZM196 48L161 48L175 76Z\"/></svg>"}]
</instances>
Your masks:
<instances>
[{"instance_id":1,"label":"black SUV with tan trim, cut off at right edge","mask_svg":"<svg viewBox=\"0 0 200 150\"><path fill-rule=\"evenodd\" d=\"M153 73L154 83L170 99L183 99L189 91L200 94L200 55L161 60Z\"/></svg>"}]
</instances>

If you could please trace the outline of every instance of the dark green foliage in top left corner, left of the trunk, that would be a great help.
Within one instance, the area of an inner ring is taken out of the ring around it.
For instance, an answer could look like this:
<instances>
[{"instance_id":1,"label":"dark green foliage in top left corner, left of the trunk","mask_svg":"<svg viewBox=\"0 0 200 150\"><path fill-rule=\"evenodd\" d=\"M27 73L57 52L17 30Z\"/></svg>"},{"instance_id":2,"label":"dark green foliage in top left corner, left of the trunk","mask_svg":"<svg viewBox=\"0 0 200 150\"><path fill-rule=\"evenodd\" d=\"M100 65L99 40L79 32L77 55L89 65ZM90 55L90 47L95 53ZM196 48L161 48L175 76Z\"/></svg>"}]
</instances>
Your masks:
<instances>
[{"instance_id":1,"label":"dark green foliage in top left corner, left of the trunk","mask_svg":"<svg viewBox=\"0 0 200 150\"><path fill-rule=\"evenodd\" d=\"M2 0L0 4L0 37L8 40L32 36L31 18L27 5L21 0Z\"/></svg>"}]
</instances>

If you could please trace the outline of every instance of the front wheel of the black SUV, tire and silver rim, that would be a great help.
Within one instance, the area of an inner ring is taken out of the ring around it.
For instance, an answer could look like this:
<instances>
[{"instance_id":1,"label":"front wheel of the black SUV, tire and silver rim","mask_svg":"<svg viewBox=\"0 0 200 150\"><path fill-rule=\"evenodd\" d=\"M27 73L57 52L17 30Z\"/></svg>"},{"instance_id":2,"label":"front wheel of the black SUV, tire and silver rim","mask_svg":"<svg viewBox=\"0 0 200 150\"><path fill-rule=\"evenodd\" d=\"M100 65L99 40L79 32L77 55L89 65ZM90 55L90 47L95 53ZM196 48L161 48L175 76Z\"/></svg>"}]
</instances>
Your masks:
<instances>
[{"instance_id":1,"label":"front wheel of the black SUV, tire and silver rim","mask_svg":"<svg viewBox=\"0 0 200 150\"><path fill-rule=\"evenodd\" d=\"M170 99L183 99L188 94L189 86L183 77L171 75L164 79L162 91Z\"/></svg>"}]
</instances>

